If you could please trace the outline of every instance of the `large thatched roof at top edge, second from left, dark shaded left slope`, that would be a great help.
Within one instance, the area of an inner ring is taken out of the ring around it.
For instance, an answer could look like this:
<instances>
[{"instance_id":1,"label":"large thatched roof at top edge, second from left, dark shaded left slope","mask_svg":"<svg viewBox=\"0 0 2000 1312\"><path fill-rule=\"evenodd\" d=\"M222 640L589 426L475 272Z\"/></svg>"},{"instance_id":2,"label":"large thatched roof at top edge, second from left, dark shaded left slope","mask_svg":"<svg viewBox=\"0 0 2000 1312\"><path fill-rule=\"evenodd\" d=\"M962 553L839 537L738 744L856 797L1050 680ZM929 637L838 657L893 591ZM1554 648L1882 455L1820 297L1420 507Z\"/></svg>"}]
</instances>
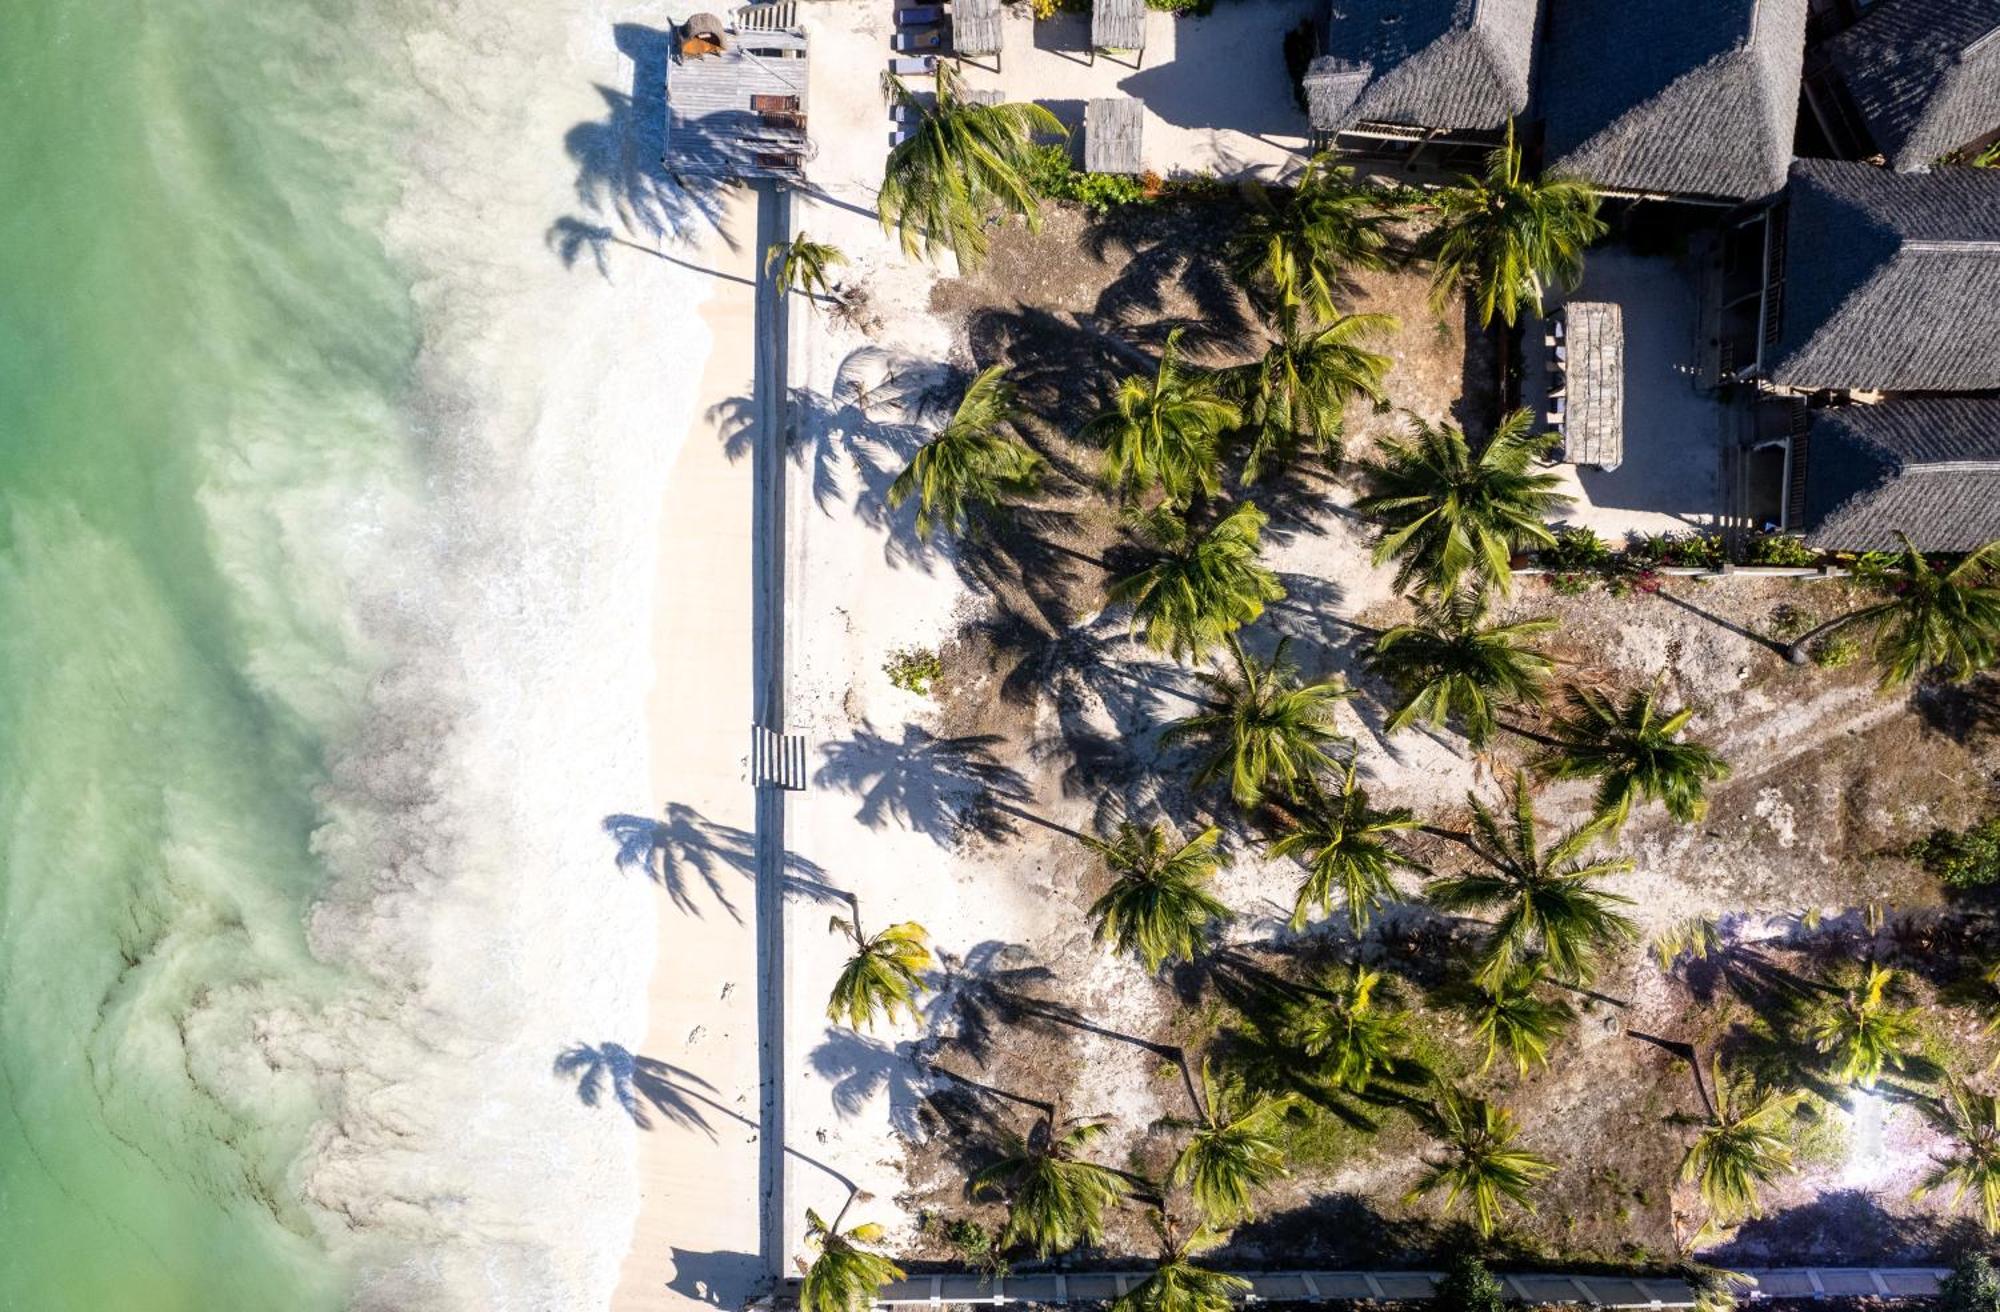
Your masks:
<instances>
[{"instance_id":1,"label":"large thatched roof at top edge, second from left, dark shaded left slope","mask_svg":"<svg viewBox=\"0 0 2000 1312\"><path fill-rule=\"evenodd\" d=\"M1564 0L1548 22L1552 170L1640 196L1734 202L1784 186L1806 0Z\"/></svg>"}]
</instances>

